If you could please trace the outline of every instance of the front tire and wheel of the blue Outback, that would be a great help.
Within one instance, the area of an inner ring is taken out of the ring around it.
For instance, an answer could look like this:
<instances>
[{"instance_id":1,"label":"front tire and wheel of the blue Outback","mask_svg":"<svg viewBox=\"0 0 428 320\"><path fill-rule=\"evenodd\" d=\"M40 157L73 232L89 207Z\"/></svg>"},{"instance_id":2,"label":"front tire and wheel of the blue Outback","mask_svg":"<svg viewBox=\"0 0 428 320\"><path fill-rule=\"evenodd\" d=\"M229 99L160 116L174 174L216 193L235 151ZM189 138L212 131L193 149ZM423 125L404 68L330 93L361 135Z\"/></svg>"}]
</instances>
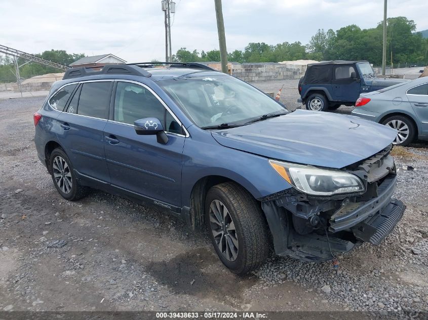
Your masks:
<instances>
[{"instance_id":1,"label":"front tire and wheel of the blue Outback","mask_svg":"<svg viewBox=\"0 0 428 320\"><path fill-rule=\"evenodd\" d=\"M245 275L266 259L270 242L264 213L241 186L225 182L212 187L205 199L205 221L218 257L232 272Z\"/></svg>"}]
</instances>

